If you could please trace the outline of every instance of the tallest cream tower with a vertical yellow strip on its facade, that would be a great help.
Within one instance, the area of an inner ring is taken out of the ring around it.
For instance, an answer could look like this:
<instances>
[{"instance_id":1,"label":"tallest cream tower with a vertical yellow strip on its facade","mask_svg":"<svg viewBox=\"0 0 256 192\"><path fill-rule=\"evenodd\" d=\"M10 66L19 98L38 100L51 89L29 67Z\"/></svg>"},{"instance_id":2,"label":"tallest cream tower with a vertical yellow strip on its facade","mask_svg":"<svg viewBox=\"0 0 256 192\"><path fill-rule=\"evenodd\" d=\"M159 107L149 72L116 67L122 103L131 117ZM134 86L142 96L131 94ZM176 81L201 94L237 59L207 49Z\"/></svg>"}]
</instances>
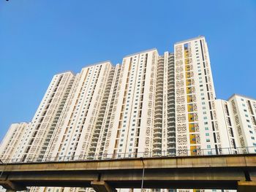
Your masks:
<instances>
[{"instance_id":1,"label":"tallest cream tower with a vertical yellow strip on its facade","mask_svg":"<svg viewBox=\"0 0 256 192\"><path fill-rule=\"evenodd\" d=\"M223 140L206 39L178 42L174 54L177 155L218 154Z\"/></svg>"}]
</instances>

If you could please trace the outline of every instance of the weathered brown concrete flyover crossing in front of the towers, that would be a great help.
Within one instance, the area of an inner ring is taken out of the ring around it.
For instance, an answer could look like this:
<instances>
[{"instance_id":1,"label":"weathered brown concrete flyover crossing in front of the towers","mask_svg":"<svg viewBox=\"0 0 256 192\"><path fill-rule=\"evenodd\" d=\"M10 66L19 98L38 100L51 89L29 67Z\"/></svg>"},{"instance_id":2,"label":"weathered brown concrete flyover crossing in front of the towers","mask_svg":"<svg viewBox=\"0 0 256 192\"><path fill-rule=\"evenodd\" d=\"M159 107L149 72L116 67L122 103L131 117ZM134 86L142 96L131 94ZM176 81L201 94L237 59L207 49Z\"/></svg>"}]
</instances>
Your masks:
<instances>
[{"instance_id":1,"label":"weathered brown concrete flyover crossing in front of the towers","mask_svg":"<svg viewBox=\"0 0 256 192\"><path fill-rule=\"evenodd\" d=\"M214 188L256 191L256 154L0 164L0 185L94 188Z\"/></svg>"}]
</instances>

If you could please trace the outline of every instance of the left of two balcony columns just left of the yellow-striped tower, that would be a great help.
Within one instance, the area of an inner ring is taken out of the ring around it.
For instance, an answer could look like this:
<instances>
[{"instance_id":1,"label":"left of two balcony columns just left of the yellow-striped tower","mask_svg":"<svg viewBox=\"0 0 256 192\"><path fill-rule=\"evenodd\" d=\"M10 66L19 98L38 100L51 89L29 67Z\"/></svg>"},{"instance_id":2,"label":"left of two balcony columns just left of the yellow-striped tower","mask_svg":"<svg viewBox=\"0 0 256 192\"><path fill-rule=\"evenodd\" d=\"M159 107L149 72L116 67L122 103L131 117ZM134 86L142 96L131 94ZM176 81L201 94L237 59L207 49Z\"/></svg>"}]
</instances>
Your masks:
<instances>
[{"instance_id":1,"label":"left of two balcony columns just left of the yellow-striped tower","mask_svg":"<svg viewBox=\"0 0 256 192\"><path fill-rule=\"evenodd\" d=\"M154 108L154 139L153 155L162 154L162 106L163 106L163 84L164 84L164 57L159 57L157 63L157 86Z\"/></svg>"}]
</instances>

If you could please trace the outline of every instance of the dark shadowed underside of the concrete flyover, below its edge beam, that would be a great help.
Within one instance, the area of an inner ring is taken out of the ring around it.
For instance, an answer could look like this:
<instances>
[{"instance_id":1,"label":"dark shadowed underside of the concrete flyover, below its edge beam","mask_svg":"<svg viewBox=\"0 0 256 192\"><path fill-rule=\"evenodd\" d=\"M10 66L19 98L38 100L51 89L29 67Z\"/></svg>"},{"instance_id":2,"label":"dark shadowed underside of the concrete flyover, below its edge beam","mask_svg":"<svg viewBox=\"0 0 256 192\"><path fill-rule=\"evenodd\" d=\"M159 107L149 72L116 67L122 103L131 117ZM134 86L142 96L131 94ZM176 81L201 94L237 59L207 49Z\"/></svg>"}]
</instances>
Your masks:
<instances>
[{"instance_id":1,"label":"dark shadowed underside of the concrete flyover, below its edge beam","mask_svg":"<svg viewBox=\"0 0 256 192\"><path fill-rule=\"evenodd\" d=\"M251 173L251 175L253 175ZM9 174L7 179L17 186L53 186L91 188L91 182L103 180L112 188L140 188L142 169L104 172L23 172ZM147 169L144 188L237 189L246 180L244 169ZM4 184L3 181L0 185Z\"/></svg>"}]
</instances>

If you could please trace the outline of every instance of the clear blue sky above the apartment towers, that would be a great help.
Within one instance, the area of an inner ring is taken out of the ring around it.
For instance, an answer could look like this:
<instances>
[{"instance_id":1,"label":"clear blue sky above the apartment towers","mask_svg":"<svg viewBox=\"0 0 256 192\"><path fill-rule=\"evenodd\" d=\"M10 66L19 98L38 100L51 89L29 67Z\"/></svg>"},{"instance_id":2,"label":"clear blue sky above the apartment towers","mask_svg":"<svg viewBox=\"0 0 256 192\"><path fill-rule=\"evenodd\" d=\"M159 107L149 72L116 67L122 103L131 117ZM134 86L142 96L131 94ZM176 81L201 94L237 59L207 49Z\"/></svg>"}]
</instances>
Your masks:
<instances>
[{"instance_id":1,"label":"clear blue sky above the apartment towers","mask_svg":"<svg viewBox=\"0 0 256 192\"><path fill-rule=\"evenodd\" d=\"M217 98L256 98L256 1L0 0L0 139L53 74L204 35Z\"/></svg>"}]
</instances>

